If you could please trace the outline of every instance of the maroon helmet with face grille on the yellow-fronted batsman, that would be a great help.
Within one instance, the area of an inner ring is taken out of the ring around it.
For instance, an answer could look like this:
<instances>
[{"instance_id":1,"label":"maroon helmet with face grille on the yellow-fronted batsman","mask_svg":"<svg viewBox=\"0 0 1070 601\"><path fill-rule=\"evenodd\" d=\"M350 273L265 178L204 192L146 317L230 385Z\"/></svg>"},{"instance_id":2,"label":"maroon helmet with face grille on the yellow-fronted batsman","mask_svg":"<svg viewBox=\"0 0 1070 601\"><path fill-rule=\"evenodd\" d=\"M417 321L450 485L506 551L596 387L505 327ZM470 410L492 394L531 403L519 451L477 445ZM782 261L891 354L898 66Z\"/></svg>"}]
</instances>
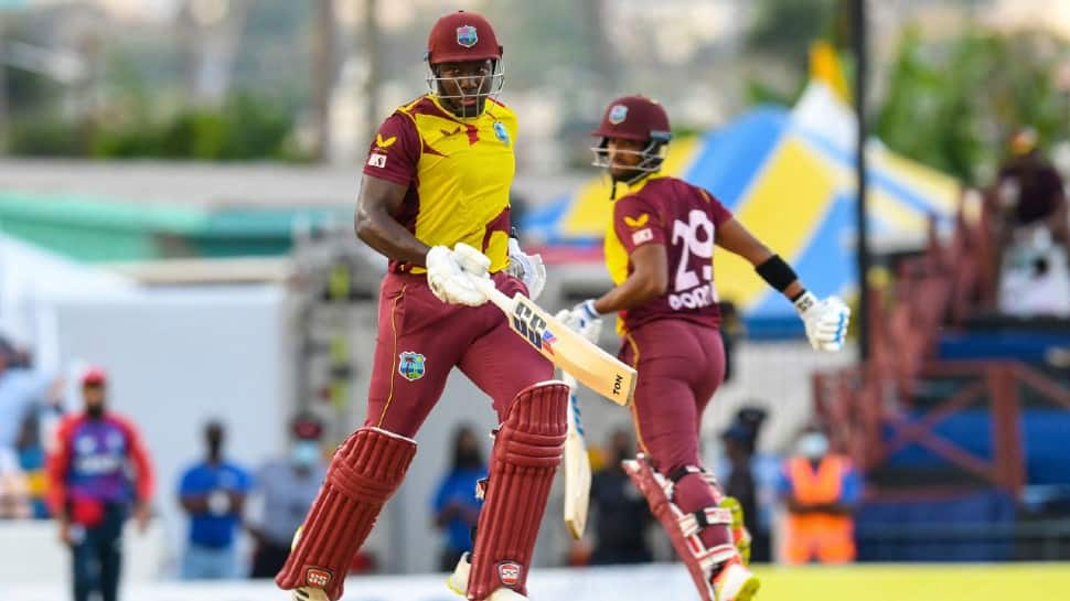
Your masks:
<instances>
[{"instance_id":1,"label":"maroon helmet with face grille on the yellow-fronted batsman","mask_svg":"<svg viewBox=\"0 0 1070 601\"><path fill-rule=\"evenodd\" d=\"M463 90L459 95L443 93L441 82L447 79L461 81L480 77L479 92L468 94L469 97L494 97L502 92L505 84L505 69L502 66L502 45L497 43L494 28L480 14L458 11L447 14L431 28L427 37L427 52L424 60L427 63L427 87L439 98L463 98ZM485 67L478 75L449 75L435 68L442 63L485 62ZM458 86L460 87L460 86ZM481 100L482 104L482 100Z\"/></svg>"}]
</instances>

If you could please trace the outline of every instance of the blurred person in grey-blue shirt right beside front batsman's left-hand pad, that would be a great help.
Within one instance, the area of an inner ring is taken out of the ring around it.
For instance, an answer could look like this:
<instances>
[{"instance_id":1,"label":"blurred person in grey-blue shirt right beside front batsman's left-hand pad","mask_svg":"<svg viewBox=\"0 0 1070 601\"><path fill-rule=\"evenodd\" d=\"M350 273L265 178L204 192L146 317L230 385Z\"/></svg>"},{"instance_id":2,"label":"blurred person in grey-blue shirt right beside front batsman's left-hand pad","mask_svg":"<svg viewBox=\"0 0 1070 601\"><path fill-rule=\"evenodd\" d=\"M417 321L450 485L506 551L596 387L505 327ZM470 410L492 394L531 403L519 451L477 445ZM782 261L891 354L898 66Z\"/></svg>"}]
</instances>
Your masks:
<instances>
[{"instance_id":1,"label":"blurred person in grey-blue shirt right beside front batsman's left-hand pad","mask_svg":"<svg viewBox=\"0 0 1070 601\"><path fill-rule=\"evenodd\" d=\"M275 578L290 555L293 533L320 491L327 466L320 438L323 426L310 417L292 422L290 457L266 463L255 479L254 494L263 511L249 526L256 540L253 578Z\"/></svg>"}]
</instances>

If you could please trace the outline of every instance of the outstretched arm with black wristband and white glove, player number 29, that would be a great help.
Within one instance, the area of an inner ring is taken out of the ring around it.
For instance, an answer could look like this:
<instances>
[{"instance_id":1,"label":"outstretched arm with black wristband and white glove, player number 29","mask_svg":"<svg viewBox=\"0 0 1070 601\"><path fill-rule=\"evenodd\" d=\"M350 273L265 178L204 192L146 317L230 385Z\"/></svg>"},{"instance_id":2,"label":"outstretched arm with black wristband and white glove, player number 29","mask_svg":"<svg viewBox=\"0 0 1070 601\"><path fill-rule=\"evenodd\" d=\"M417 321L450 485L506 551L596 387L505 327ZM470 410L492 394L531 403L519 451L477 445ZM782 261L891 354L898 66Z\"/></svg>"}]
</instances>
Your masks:
<instances>
[{"instance_id":1,"label":"outstretched arm with black wristband and white glove, player number 29","mask_svg":"<svg viewBox=\"0 0 1070 601\"><path fill-rule=\"evenodd\" d=\"M842 300L837 297L818 300L813 292L806 290L788 261L770 250L735 218L718 224L716 244L753 265L755 270L769 286L795 305L806 326L806 337L814 348L843 348L850 309Z\"/></svg>"}]
</instances>

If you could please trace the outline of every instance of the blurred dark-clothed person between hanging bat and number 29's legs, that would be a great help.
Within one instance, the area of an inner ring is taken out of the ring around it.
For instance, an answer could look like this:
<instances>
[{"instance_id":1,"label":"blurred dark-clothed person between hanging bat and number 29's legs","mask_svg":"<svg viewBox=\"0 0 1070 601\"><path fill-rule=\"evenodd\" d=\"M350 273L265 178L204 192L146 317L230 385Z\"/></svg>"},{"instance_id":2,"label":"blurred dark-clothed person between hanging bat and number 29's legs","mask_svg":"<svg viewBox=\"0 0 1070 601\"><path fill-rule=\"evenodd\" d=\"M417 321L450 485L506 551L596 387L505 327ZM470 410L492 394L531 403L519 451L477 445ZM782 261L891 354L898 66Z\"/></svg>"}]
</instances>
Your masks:
<instances>
[{"instance_id":1,"label":"blurred dark-clothed person between hanging bat and number 29's legs","mask_svg":"<svg viewBox=\"0 0 1070 601\"><path fill-rule=\"evenodd\" d=\"M621 466L621 461L633 457L631 434L619 429L609 439L606 465L591 477L597 535L592 565L643 564L653 558L646 543L651 523L646 500Z\"/></svg>"}]
</instances>

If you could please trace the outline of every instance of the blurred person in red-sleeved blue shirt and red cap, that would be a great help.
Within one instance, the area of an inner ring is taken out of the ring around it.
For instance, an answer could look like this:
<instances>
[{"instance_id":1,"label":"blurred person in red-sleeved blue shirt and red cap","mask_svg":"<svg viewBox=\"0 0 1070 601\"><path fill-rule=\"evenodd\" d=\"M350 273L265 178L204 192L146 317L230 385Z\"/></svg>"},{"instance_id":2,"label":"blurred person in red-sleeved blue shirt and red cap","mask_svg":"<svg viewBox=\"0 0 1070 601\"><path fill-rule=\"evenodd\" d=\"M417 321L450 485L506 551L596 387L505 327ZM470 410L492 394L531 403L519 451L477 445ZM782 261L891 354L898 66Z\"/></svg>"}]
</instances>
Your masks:
<instances>
[{"instance_id":1,"label":"blurred person in red-sleeved blue shirt and red cap","mask_svg":"<svg viewBox=\"0 0 1070 601\"><path fill-rule=\"evenodd\" d=\"M149 455L133 425L108 410L106 380L101 369L85 373L85 410L60 423L49 457L49 500L74 556L75 601L94 590L103 601L116 600L122 524L131 507L141 532L149 524Z\"/></svg>"}]
</instances>

